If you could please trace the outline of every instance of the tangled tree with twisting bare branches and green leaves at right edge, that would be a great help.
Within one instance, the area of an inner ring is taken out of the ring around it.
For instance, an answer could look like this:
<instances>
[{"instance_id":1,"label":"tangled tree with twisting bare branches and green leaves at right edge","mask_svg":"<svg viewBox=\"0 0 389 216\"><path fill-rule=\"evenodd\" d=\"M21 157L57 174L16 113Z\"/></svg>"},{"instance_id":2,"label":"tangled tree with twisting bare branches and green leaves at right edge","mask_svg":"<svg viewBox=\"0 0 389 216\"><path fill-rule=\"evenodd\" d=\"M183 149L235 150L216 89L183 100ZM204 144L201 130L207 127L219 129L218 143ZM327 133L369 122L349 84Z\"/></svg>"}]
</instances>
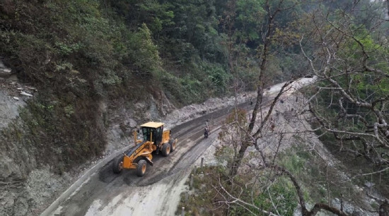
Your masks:
<instances>
[{"instance_id":1,"label":"tangled tree with twisting bare branches and green leaves at right edge","mask_svg":"<svg viewBox=\"0 0 389 216\"><path fill-rule=\"evenodd\" d=\"M336 16L314 11L310 33L315 36L301 37L303 55L322 80L313 92L310 112L338 140L339 150L385 168L389 165L388 44L373 30L355 25L346 11ZM308 54L304 43L319 48ZM334 113L325 112L329 107Z\"/></svg>"}]
</instances>

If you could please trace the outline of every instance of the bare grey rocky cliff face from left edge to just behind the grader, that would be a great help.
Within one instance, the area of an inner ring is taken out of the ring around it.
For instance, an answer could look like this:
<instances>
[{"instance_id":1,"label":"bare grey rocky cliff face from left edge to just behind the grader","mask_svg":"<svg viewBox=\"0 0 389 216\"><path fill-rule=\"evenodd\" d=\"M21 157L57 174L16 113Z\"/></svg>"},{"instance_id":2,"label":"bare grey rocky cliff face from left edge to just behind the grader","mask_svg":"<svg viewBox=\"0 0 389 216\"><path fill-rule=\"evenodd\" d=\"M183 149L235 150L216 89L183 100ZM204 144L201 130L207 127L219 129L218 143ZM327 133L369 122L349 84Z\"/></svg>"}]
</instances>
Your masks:
<instances>
[{"instance_id":1,"label":"bare grey rocky cliff face from left edge to just behind the grader","mask_svg":"<svg viewBox=\"0 0 389 216\"><path fill-rule=\"evenodd\" d=\"M5 68L4 64L0 66ZM42 163L37 156L42 150L37 148L40 144L31 143L30 136L34 134L19 116L20 112L28 112L27 102L38 92L19 83L11 74L0 77L0 86L0 215L39 215L99 158L62 174L50 161ZM100 102L99 121L105 121L108 131L103 155L128 145L139 124L161 120L175 108L163 92L154 95L156 98L148 95L145 101L137 103Z\"/></svg>"}]
</instances>

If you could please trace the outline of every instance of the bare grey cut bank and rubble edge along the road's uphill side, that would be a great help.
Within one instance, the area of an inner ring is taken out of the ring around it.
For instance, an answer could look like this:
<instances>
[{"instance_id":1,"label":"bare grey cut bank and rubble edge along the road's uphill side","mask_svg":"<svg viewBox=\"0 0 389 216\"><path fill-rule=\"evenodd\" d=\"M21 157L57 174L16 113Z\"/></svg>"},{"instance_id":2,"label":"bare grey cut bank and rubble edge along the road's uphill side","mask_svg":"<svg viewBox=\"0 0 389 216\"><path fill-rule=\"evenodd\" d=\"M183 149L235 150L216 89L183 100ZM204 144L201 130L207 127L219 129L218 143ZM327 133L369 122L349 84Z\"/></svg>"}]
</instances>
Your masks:
<instances>
[{"instance_id":1,"label":"bare grey cut bank and rubble edge along the road's uphill side","mask_svg":"<svg viewBox=\"0 0 389 216\"><path fill-rule=\"evenodd\" d=\"M231 106L235 100L233 97L211 98L202 104L192 104L181 109L175 109L163 96L153 99L150 95L149 101L136 104L116 102L117 105L113 105L101 102L99 109L102 110L103 116L107 119L106 124L108 124L108 145L104 154L81 166L58 174L50 164L45 165L38 162L40 160L37 159L39 155L37 148L28 144L28 138L23 138L23 134L29 128L25 126L25 122L18 117L18 114L21 110L25 112L23 99L27 100L30 97L19 96L20 100L16 100L13 99L13 95L20 93L20 90L17 90L21 88L18 87L19 85L23 88L27 87L14 80L3 81L4 85L11 90L1 91L0 95L4 98L4 103L0 104L1 110L10 110L2 115L2 118L9 120L8 126L1 128L1 138L8 139L8 142L4 143L6 145L1 145L0 172L3 184L0 185L0 203L3 205L0 208L0 215L40 214L47 205L96 162L104 160L103 158L107 155L129 145L132 142L130 134L145 121L163 121L168 127L173 127L216 109ZM16 91L13 91L14 85L17 87L15 87ZM247 101L248 97L249 95L240 95L238 102ZM9 118L10 112L13 112L14 118ZM8 133L11 135L8 136ZM18 134L21 140L14 139Z\"/></svg>"}]
</instances>

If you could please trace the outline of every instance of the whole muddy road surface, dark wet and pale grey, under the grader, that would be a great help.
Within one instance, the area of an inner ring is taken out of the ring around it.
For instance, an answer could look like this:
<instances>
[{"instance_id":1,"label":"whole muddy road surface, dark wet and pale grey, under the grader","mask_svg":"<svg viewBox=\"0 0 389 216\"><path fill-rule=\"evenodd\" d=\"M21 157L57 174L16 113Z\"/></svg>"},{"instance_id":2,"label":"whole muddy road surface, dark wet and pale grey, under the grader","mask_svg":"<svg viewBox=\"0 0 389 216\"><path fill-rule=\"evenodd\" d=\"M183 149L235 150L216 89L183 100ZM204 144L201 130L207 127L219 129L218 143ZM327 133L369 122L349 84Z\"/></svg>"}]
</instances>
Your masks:
<instances>
[{"instance_id":1,"label":"whole muddy road surface, dark wet and pale grey, under the grader","mask_svg":"<svg viewBox=\"0 0 389 216\"><path fill-rule=\"evenodd\" d=\"M250 109L250 102L239 105ZM204 114L204 116L172 128L178 145L168 157L153 155L153 166L139 177L135 169L112 172L112 161L105 164L84 182L51 215L175 215L180 193L191 166L217 138L217 131L232 107ZM203 130L209 120L211 133L205 139Z\"/></svg>"}]
</instances>

